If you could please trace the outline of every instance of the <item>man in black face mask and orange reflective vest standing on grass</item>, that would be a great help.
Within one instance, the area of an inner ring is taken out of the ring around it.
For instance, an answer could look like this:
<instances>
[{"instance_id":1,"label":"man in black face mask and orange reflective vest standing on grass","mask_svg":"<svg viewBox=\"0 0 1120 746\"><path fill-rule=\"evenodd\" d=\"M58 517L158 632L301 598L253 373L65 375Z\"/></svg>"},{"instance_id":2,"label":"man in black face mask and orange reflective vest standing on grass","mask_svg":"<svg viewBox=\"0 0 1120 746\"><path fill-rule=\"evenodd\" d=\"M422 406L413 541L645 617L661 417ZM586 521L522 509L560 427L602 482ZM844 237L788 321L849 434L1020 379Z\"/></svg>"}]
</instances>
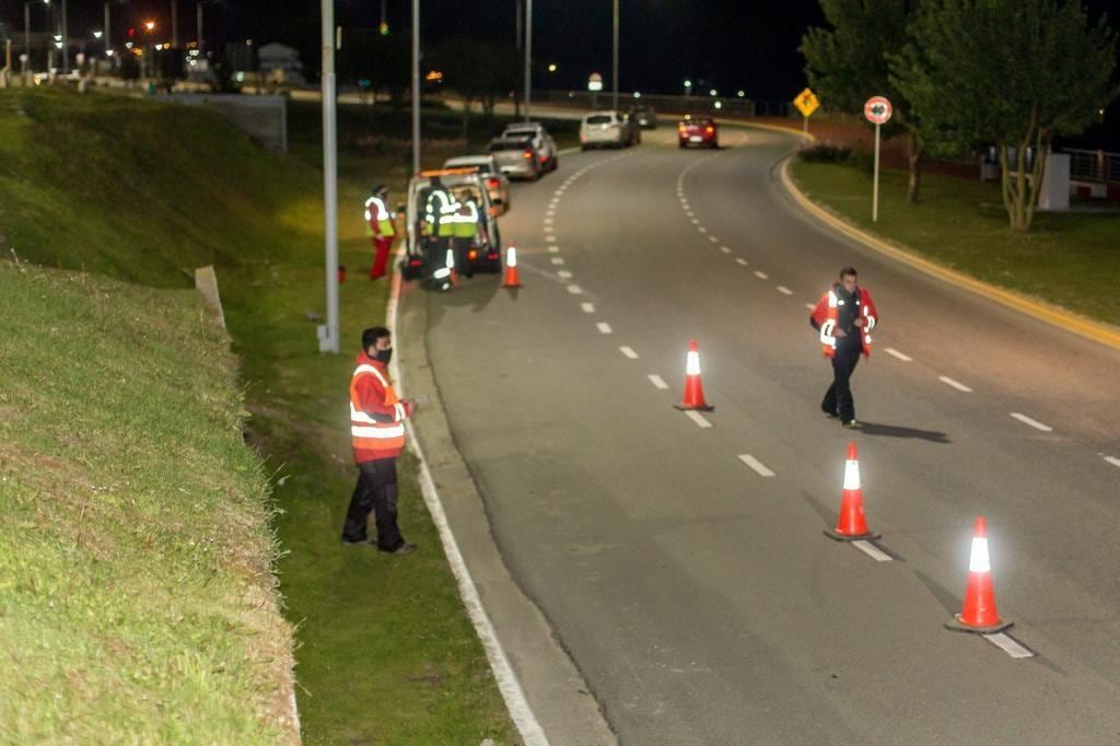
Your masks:
<instances>
[{"instance_id":1,"label":"man in black face mask and orange reflective vest standing on grass","mask_svg":"<svg viewBox=\"0 0 1120 746\"><path fill-rule=\"evenodd\" d=\"M351 496L343 526L343 544L376 545L392 554L416 551L396 525L396 457L404 449L404 420L417 402L398 399L389 381L393 356L389 329L376 326L362 333L362 352L351 377L351 444L357 464L357 486ZM373 511L377 539L370 541L366 522Z\"/></svg>"}]
</instances>

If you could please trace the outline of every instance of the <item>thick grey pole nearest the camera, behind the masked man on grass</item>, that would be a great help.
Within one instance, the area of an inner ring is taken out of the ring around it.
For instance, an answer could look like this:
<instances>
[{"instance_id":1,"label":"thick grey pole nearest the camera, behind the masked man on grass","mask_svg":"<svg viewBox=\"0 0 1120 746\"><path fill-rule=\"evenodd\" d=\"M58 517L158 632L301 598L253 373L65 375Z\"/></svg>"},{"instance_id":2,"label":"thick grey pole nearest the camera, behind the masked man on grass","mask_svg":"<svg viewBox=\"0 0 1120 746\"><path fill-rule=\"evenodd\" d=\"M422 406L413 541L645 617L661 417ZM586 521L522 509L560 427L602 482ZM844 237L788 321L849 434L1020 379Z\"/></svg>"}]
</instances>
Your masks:
<instances>
[{"instance_id":1,"label":"thick grey pole nearest the camera, behind the masked man on grass","mask_svg":"<svg viewBox=\"0 0 1120 746\"><path fill-rule=\"evenodd\" d=\"M335 146L335 0L323 12L323 212L327 270L327 324L319 327L319 352L338 352L338 162Z\"/></svg>"}]
</instances>

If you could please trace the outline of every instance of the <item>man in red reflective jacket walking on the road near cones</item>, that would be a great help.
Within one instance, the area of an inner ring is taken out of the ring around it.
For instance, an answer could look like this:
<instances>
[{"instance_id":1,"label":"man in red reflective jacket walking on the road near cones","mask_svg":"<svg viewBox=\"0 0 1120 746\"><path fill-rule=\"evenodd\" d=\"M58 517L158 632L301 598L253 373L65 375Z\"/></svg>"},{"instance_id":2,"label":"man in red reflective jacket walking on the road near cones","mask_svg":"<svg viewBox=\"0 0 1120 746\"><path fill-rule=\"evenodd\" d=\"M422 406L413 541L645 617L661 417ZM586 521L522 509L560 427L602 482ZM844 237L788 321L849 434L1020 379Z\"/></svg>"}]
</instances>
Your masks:
<instances>
[{"instance_id":1,"label":"man in red reflective jacket walking on the road near cones","mask_svg":"<svg viewBox=\"0 0 1120 746\"><path fill-rule=\"evenodd\" d=\"M871 329L879 321L871 293L860 288L853 267L840 270L840 281L821 296L809 323L820 332L821 349L832 358L832 385L824 392L821 409L839 417L843 427L858 428L851 374L859 355L871 354Z\"/></svg>"}]
</instances>

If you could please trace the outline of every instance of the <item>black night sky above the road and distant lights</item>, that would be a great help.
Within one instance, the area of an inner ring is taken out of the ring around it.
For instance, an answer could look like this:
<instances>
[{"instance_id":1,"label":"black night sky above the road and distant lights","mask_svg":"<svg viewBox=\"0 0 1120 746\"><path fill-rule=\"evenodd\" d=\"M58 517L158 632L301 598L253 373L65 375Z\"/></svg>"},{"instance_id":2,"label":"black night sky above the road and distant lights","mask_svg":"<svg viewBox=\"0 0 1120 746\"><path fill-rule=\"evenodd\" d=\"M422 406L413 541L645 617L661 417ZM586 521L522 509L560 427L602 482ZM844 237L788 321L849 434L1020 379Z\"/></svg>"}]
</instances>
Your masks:
<instances>
[{"instance_id":1,"label":"black night sky above the road and distant lights","mask_svg":"<svg viewBox=\"0 0 1120 746\"><path fill-rule=\"evenodd\" d=\"M68 0L71 36L102 25L101 0ZM54 0L57 7L60 0ZM408 34L411 0L384 0L393 34ZM515 43L516 2L524 0L421 0L421 37L426 48L452 37ZM344 28L375 28L382 0L336 0L336 22ZM610 87L612 0L534 0L533 56L559 71L536 85L584 88L592 72ZM1120 15L1120 0L1089 0L1098 13ZM734 92L756 100L788 101L804 85L797 46L805 29L823 25L818 0L620 0L620 87L646 93L681 93L685 77L698 88ZM22 0L0 0L0 20L19 39ZM170 0L129 0L114 4L113 34L143 18L169 28ZM209 0L206 36L212 43L281 41L296 47L315 81L319 57L317 0ZM40 8L32 29L41 28ZM195 1L179 0L179 36L195 35ZM166 34L169 39L170 34ZM544 77L544 73L540 74ZM554 85L551 83L554 81Z\"/></svg>"}]
</instances>

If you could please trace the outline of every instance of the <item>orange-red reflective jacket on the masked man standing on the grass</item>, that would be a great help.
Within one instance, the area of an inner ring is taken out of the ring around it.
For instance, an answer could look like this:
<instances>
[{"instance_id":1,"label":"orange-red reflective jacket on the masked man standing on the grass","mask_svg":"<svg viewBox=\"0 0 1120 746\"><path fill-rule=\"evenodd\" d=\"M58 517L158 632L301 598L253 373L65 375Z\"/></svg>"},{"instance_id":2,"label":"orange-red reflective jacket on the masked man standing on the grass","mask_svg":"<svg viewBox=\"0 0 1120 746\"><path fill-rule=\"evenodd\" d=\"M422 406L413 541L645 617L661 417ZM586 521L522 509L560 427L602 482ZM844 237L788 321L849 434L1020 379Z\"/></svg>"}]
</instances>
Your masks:
<instances>
[{"instance_id":1,"label":"orange-red reflective jacket on the masked man standing on the grass","mask_svg":"<svg viewBox=\"0 0 1120 746\"><path fill-rule=\"evenodd\" d=\"M404 448L408 410L381 363L362 354L351 377L351 445L358 464L399 456ZM376 411L376 410L382 411ZM372 410L372 411L371 411Z\"/></svg>"}]
</instances>

